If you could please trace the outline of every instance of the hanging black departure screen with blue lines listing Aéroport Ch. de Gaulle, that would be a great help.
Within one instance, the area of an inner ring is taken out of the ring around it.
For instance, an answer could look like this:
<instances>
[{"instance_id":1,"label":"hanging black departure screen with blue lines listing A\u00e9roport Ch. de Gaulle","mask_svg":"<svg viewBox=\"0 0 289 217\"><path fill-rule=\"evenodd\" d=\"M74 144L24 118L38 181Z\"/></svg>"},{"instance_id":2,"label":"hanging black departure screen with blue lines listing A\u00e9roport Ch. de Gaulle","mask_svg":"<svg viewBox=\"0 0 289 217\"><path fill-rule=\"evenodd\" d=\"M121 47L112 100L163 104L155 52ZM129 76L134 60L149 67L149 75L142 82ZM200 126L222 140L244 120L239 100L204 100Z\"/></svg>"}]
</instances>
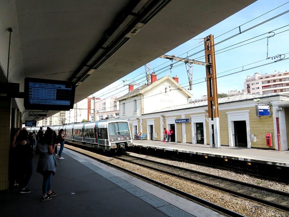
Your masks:
<instances>
[{"instance_id":1,"label":"hanging black departure screen with blue lines listing A\u00e9roport Ch. de Gaulle","mask_svg":"<svg viewBox=\"0 0 289 217\"><path fill-rule=\"evenodd\" d=\"M69 110L73 108L75 83L25 78L25 109Z\"/></svg>"}]
</instances>

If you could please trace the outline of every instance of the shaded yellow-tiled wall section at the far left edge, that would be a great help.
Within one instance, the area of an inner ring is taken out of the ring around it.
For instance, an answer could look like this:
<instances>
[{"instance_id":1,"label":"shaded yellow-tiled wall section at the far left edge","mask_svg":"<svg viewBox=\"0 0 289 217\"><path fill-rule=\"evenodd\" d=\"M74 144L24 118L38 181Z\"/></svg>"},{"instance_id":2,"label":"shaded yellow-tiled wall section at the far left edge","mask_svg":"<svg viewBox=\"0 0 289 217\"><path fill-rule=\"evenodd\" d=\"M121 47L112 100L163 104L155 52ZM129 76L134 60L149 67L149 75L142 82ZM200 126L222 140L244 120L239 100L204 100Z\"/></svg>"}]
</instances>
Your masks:
<instances>
[{"instance_id":1,"label":"shaded yellow-tiled wall section at the far left edge","mask_svg":"<svg viewBox=\"0 0 289 217\"><path fill-rule=\"evenodd\" d=\"M0 191L8 190L11 100L0 98Z\"/></svg>"}]
</instances>

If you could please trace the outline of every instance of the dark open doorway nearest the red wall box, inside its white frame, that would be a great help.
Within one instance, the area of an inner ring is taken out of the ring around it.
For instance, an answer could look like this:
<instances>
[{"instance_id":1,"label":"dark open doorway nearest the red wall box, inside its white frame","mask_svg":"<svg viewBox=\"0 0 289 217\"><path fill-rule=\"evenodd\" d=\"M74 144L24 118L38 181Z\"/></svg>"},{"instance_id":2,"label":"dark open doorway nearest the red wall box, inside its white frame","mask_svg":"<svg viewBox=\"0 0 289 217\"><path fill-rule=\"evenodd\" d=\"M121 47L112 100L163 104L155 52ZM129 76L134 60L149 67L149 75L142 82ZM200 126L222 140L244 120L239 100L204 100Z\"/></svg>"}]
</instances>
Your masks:
<instances>
[{"instance_id":1,"label":"dark open doorway nearest the red wall box, inside its white frame","mask_svg":"<svg viewBox=\"0 0 289 217\"><path fill-rule=\"evenodd\" d=\"M234 121L235 146L247 147L246 121Z\"/></svg>"}]
</instances>

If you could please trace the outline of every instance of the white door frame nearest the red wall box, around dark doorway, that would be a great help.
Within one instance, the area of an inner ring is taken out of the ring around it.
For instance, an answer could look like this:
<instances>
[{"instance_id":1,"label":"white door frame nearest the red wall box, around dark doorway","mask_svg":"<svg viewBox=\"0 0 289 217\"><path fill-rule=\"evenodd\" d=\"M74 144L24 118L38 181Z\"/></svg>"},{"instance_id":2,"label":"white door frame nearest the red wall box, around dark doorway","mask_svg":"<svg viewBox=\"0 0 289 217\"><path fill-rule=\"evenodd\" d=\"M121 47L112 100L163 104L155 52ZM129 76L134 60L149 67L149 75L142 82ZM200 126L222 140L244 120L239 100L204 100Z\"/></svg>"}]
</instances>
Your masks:
<instances>
[{"instance_id":1,"label":"white door frame nearest the red wall box, around dark doorway","mask_svg":"<svg viewBox=\"0 0 289 217\"><path fill-rule=\"evenodd\" d=\"M236 146L235 139L233 136L233 134L234 134L234 121L246 121L247 148L251 148L249 112L250 112L250 110L226 112L226 114L228 115L229 146L230 147Z\"/></svg>"}]
</instances>

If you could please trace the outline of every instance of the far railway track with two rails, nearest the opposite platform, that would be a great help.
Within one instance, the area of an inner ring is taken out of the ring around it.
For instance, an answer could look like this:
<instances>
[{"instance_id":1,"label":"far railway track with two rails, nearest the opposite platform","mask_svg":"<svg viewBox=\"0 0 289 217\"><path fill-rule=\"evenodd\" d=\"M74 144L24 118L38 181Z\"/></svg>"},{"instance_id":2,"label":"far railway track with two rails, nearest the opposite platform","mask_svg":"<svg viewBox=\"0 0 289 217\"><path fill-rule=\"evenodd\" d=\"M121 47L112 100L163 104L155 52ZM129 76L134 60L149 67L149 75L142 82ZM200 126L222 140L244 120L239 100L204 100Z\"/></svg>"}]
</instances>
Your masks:
<instances>
[{"instance_id":1,"label":"far railway track with two rails, nearest the opposite platform","mask_svg":"<svg viewBox=\"0 0 289 217\"><path fill-rule=\"evenodd\" d=\"M253 202L262 203L263 205L289 212L289 194L278 190L269 189L266 187L252 185L232 179L227 179L199 171L180 168L165 163L151 161L139 157L123 155L115 157L129 163L134 163L151 170L156 170L168 175L191 181L229 193L234 196L246 198Z\"/></svg>"}]
</instances>

